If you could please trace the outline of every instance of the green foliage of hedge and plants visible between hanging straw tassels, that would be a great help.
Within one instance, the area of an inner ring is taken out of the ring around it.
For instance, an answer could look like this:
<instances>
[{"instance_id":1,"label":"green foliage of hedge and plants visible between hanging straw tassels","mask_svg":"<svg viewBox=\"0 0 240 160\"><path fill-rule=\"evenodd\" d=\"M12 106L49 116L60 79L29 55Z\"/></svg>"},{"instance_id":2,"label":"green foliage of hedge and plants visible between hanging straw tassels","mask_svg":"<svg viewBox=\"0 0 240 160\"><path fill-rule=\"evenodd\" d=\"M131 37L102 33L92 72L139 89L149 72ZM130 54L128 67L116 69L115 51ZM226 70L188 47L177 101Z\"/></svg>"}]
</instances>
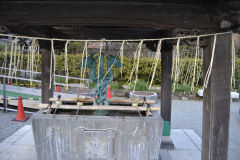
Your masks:
<instances>
[{"instance_id":1,"label":"green foliage of hedge and plants visible between hanging straw tassels","mask_svg":"<svg viewBox=\"0 0 240 160\"><path fill-rule=\"evenodd\" d=\"M80 46L79 46L80 47ZM240 51L238 51L240 54ZM4 54L3 52L0 52L0 65L2 66L3 64L3 59L4 59ZM10 61L10 56L8 53L8 63ZM37 55L35 60L37 60ZM26 70L27 69L27 60L28 56L27 54L24 54L24 61L23 61L23 67L21 69ZM80 77L81 75L81 69L78 68L78 65L82 61L82 54L68 54L68 69L69 69L69 76L72 77ZM105 61L106 62L106 61ZM186 78L192 79L193 76L193 69L192 69L192 64L194 64L194 58L184 58L180 59L180 63L183 65L184 71L180 74L179 76L179 81L177 83L182 84L182 85L177 85L176 86L176 92L190 92L190 86L191 84L185 83ZM202 63L201 59L197 60L197 66L199 67L200 64ZM41 55L39 61L37 60L37 71L41 71ZM105 63L106 64L106 63ZM121 69L116 69L113 68L113 73L114 73L114 81L113 84L111 84L111 88L118 88L121 85L125 85L126 82L128 81L130 74L132 72L133 64L134 64L134 59L133 58L127 58L124 57L123 59L123 64L124 67L122 68L123 72L121 75ZM147 90L149 81L151 80L150 78L152 77L152 64L153 64L153 58L140 58L139 61L139 70L138 70L138 80L139 82L137 83L136 90ZM158 65L157 65L157 70L155 74L155 78L153 81L153 86L161 86L161 60L159 60ZM191 65L190 65L191 64ZM190 66L190 67L189 67ZM8 67L8 65L7 65ZM106 68L106 66L105 66ZM35 68L34 68L35 69ZM203 71L202 68L200 69L200 79L197 82L195 82L195 87L201 87L203 85ZM88 78L88 73L90 69L86 69L86 75L85 78ZM106 72L106 70L105 70ZM56 55L56 74L60 75L65 75L65 68L64 68L64 55ZM135 73L132 75L132 81L135 80ZM236 72L235 72L235 79L236 79L236 87L234 90L240 90L240 58L236 57ZM56 82L59 83L65 83L65 78L57 78L56 77ZM148 82L148 83L147 83ZM72 80L69 79L69 83L79 83L78 80ZM95 84L90 83L90 88L94 88ZM140 87L138 87L140 86Z\"/></svg>"}]
</instances>

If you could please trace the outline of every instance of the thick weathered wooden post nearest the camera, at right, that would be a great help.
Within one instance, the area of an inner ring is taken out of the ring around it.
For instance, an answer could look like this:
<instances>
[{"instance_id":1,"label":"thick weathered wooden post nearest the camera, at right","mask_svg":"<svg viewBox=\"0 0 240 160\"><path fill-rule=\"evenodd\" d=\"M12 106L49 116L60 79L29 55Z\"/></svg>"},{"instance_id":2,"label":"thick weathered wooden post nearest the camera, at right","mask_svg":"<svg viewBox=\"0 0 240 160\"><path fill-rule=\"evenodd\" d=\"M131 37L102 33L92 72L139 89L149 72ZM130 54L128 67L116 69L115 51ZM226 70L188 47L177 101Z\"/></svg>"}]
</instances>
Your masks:
<instances>
[{"instance_id":1,"label":"thick weathered wooden post nearest the camera, at right","mask_svg":"<svg viewBox=\"0 0 240 160\"><path fill-rule=\"evenodd\" d=\"M232 35L218 35L212 72L203 99L202 160L227 160L231 91ZM211 61L213 38L204 50L206 74Z\"/></svg>"}]
</instances>

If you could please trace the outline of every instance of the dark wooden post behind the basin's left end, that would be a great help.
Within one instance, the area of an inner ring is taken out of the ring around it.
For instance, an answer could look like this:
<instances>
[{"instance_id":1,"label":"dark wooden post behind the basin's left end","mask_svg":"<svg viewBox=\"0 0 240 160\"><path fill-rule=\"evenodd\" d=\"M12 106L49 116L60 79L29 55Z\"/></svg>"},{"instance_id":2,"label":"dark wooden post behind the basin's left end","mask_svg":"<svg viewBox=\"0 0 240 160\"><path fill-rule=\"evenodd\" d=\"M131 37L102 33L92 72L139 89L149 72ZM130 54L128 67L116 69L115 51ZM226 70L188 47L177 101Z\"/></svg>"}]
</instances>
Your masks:
<instances>
[{"instance_id":1,"label":"dark wooden post behind the basin's left end","mask_svg":"<svg viewBox=\"0 0 240 160\"><path fill-rule=\"evenodd\" d=\"M49 103L49 98L53 97L53 88L54 88L54 77L52 79L52 85L51 85L52 87L49 88L50 65L51 65L51 42L39 41L39 45L41 48L40 52L42 53L42 66L41 66L42 103ZM53 67L52 67L52 70L53 70Z\"/></svg>"}]
</instances>

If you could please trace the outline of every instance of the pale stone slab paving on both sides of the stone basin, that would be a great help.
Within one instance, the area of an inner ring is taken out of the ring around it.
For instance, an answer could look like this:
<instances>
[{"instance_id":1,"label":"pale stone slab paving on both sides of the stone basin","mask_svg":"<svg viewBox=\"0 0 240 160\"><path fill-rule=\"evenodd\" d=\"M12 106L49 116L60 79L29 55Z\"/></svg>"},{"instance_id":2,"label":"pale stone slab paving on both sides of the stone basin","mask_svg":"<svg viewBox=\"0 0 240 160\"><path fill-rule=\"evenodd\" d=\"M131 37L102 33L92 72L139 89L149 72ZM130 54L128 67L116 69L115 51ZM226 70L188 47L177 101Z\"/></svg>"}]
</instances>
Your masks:
<instances>
[{"instance_id":1,"label":"pale stone slab paving on both sides of the stone basin","mask_svg":"<svg viewBox=\"0 0 240 160\"><path fill-rule=\"evenodd\" d=\"M175 149L161 150L161 160L201 160L201 138L191 129L172 129ZM32 126L25 125L0 143L0 160L37 160Z\"/></svg>"}]
</instances>

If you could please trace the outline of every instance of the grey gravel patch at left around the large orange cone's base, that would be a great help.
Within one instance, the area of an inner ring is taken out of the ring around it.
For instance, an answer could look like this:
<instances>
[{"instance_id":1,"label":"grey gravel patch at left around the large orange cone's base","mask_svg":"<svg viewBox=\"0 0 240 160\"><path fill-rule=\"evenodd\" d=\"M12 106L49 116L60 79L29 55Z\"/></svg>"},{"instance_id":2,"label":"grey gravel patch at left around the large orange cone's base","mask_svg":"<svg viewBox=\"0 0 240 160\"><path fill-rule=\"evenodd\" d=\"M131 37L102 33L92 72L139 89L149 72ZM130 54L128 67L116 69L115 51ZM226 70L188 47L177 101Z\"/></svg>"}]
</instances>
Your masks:
<instances>
[{"instance_id":1,"label":"grey gravel patch at left around the large orange cone's base","mask_svg":"<svg viewBox=\"0 0 240 160\"><path fill-rule=\"evenodd\" d=\"M27 122L15 122L12 119L16 118L17 112L7 112L4 113L0 110L0 142L2 142L7 137L11 136L19 128L26 124L31 124L31 119ZM26 114L26 116L30 116Z\"/></svg>"}]
</instances>

